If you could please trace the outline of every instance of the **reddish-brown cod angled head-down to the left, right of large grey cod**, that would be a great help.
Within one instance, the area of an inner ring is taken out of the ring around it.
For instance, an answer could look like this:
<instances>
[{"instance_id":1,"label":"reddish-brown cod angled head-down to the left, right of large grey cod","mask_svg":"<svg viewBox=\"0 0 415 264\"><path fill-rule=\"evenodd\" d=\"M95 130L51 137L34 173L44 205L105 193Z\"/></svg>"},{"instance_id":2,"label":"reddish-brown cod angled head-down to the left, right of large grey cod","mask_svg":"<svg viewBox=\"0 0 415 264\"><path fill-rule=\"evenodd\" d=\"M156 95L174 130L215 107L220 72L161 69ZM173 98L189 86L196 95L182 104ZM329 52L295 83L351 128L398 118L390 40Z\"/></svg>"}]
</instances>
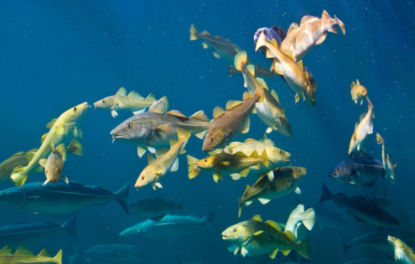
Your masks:
<instances>
[{"instance_id":1,"label":"reddish-brown cod angled head-down to the left, right of large grey cod","mask_svg":"<svg viewBox=\"0 0 415 264\"><path fill-rule=\"evenodd\" d=\"M214 121L206 131L203 141L203 151L220 148L232 141L238 133L248 133L249 113L255 108L259 97L253 97L248 92L243 94L243 101L228 101L226 109L220 106L214 108Z\"/></svg>"}]
</instances>

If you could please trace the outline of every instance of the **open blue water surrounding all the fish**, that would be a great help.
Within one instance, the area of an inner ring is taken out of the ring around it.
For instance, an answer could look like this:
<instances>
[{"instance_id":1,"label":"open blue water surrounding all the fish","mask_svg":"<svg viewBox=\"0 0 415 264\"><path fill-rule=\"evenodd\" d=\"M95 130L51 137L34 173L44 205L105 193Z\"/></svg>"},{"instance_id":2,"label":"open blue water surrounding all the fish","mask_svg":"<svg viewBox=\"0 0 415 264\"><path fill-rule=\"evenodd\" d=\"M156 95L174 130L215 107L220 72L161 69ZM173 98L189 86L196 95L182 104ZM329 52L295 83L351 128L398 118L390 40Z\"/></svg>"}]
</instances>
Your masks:
<instances>
[{"instance_id":1,"label":"open blue water surrounding all the fish","mask_svg":"<svg viewBox=\"0 0 415 264\"><path fill-rule=\"evenodd\" d=\"M226 62L216 59L211 50L201 48L200 40L189 41L189 26L199 31L229 38L247 50L253 62L269 67L260 53L254 52L253 33L263 26L287 29L305 15L320 16L322 10L336 15L346 26L346 35L329 33L322 45L304 59L317 82L314 107L294 103L294 92L277 77L268 79L285 107L293 128L288 138L273 132L268 137L291 153L292 165L307 167L300 182L300 199L306 204L318 201L322 182L334 192L362 194L364 187L337 184L327 172L347 158L347 148L359 114L366 106L354 105L350 83L355 79L369 90L374 104L374 131L382 134L392 161L397 163L397 184L380 179L372 187L394 202L389 211L401 222L401 231L414 230L414 12L411 1L3 1L0 4L0 160L40 146L47 132L46 123L83 101L89 104L119 87L157 98L167 95L170 109L190 115L204 110L211 118L215 106L241 99L243 79L228 77ZM364 104L365 105L365 104ZM89 185L103 185L115 191L134 184L147 159L139 159L133 145L112 143L110 131L127 119L119 111L117 119L109 111L91 109L85 117L83 157L69 155L64 175ZM251 131L236 140L262 138L266 126L251 116ZM369 136L366 148L382 159L381 147ZM203 158L202 141L191 137L187 153ZM29 181L43 180L43 174ZM184 214L204 216L215 211L214 231L179 238L160 244L136 241L147 263L238 263L227 251L221 231L241 221L237 217L237 197L254 175L237 182L225 177L215 184L208 173L194 180L187 177L187 160L180 157L177 172L166 175L163 189L131 188L129 201L161 196L183 202ZM1 185L2 189L13 186ZM261 214L263 219L285 222L296 206L296 194L262 205L244 207L242 220ZM372 226L358 223L345 209L332 202L327 207L345 217L353 238ZM96 244L122 243L117 234L142 221L127 215L115 202L88 206L78 211L78 236L66 233L39 241L31 249L48 247L53 253L63 248L64 258L75 248L84 250ZM15 222L64 221L47 215L0 207L0 225ZM379 257L371 250L353 249L345 255L340 232L310 232L311 263L343 263L358 257ZM415 245L414 245L415 246ZM275 260L274 260L275 261ZM250 263L250 262L246 262ZM270 262L272 263L272 262Z\"/></svg>"}]
</instances>

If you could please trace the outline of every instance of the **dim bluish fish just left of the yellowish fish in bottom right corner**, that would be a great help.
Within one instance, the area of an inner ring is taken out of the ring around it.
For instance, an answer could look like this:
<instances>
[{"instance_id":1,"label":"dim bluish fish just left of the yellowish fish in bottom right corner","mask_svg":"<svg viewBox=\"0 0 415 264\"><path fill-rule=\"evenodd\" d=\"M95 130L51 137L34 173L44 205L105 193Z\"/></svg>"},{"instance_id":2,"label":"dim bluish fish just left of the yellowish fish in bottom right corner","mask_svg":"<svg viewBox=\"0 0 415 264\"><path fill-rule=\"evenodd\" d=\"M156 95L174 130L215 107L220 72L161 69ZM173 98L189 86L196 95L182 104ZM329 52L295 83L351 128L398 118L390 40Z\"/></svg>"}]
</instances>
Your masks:
<instances>
[{"instance_id":1,"label":"dim bluish fish just left of the yellowish fish in bottom right corner","mask_svg":"<svg viewBox=\"0 0 415 264\"><path fill-rule=\"evenodd\" d=\"M352 240L345 241L343 244L343 251L348 253L353 246L360 246L364 248L373 248L377 251L382 251L387 255L392 255L393 250L387 241L387 234L379 231L364 233Z\"/></svg>"}]
</instances>

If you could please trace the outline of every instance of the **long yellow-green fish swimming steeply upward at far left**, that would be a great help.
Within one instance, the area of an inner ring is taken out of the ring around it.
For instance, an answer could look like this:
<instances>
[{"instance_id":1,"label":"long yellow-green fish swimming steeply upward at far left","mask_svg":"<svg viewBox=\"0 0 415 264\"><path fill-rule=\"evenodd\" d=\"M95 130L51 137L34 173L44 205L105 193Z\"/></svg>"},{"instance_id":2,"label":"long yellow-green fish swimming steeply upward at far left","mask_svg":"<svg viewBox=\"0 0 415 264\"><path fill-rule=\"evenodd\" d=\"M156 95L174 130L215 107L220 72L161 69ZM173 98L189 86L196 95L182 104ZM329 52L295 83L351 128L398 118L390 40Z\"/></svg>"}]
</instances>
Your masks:
<instances>
[{"instance_id":1,"label":"long yellow-green fish swimming steeply upward at far left","mask_svg":"<svg viewBox=\"0 0 415 264\"><path fill-rule=\"evenodd\" d=\"M51 153L51 145L59 145L65 143L73 138L68 148L76 148L72 150L72 153L76 155L82 155L82 148L77 137L82 138L82 132L80 131L79 124L82 121L88 110L88 103L78 104L71 109L65 111L58 119L53 119L46 125L46 128L50 128L49 132L44 134L41 138L42 144L33 155L26 167L18 167L11 172L11 180L13 180L16 186L24 185L31 170L38 165L41 158L45 158Z\"/></svg>"}]
</instances>

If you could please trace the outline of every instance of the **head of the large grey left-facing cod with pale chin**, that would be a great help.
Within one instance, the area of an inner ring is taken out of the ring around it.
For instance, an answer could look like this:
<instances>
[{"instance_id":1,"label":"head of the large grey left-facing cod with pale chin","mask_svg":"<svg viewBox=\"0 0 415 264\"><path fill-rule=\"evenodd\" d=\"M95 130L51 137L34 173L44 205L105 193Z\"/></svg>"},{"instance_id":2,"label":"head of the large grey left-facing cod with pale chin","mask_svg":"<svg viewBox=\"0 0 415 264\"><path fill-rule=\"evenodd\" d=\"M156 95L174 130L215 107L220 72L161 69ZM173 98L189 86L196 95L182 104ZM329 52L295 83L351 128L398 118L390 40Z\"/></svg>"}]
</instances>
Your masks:
<instances>
[{"instance_id":1,"label":"head of the large grey left-facing cod with pale chin","mask_svg":"<svg viewBox=\"0 0 415 264\"><path fill-rule=\"evenodd\" d=\"M153 126L149 122L127 119L112 129L110 135L114 140L145 142L152 135Z\"/></svg>"}]
</instances>

